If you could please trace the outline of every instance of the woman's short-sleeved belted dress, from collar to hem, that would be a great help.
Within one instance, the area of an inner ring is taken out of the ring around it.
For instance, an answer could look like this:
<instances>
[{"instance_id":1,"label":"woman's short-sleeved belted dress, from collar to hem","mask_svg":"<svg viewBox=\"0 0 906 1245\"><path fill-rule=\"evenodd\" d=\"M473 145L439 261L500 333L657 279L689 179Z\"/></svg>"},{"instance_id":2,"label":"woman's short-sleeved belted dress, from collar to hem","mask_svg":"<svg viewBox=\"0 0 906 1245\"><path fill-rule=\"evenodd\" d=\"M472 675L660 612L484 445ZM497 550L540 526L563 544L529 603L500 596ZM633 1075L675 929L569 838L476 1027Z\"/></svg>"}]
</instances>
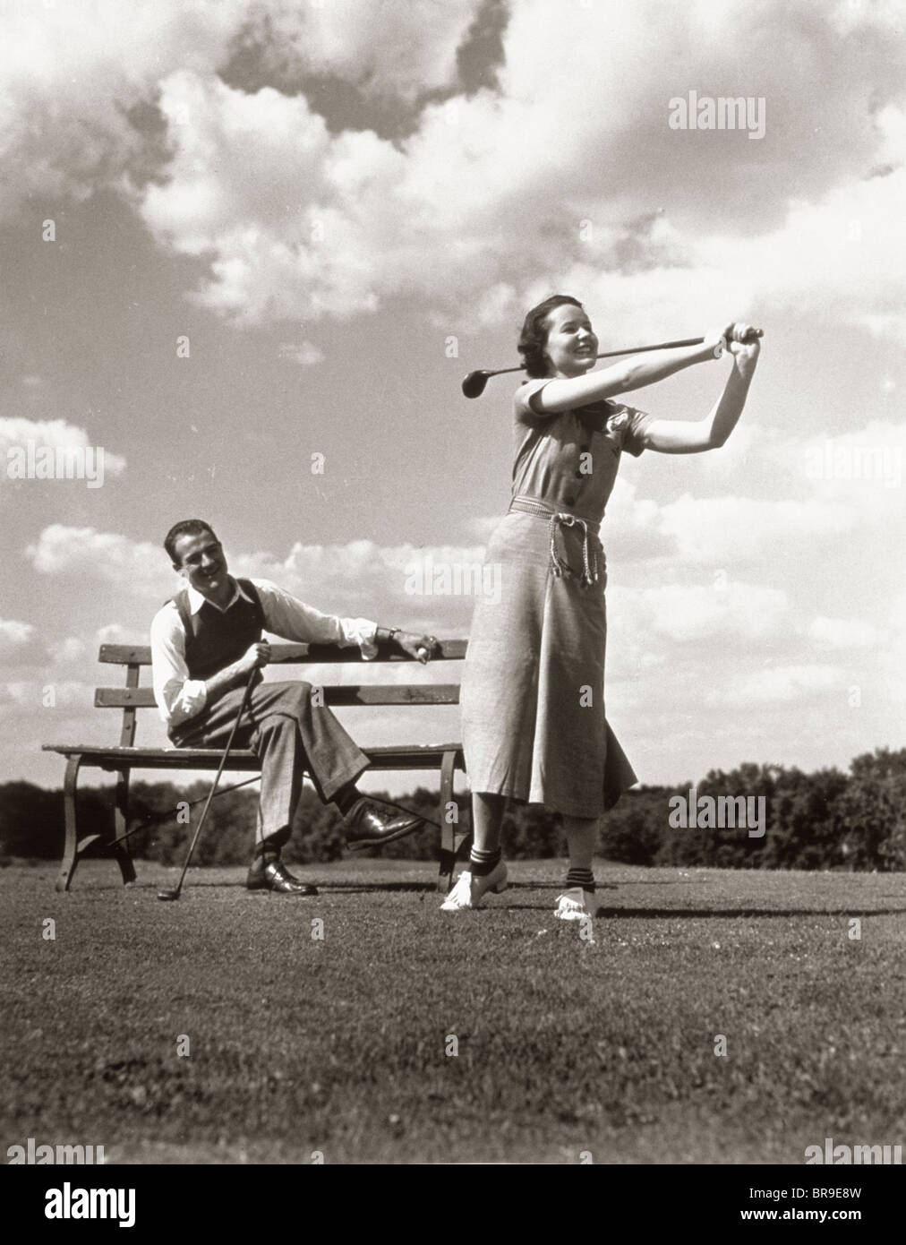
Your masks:
<instances>
[{"instance_id":1,"label":"woman's short-sleeved belted dress, from collar to hem","mask_svg":"<svg viewBox=\"0 0 906 1245\"><path fill-rule=\"evenodd\" d=\"M545 383L514 401L513 499L485 555L500 594L472 622L463 749L473 792L591 818L637 782L605 717L597 525L620 454L642 452L651 416L619 402L540 416L529 398Z\"/></svg>"}]
</instances>

